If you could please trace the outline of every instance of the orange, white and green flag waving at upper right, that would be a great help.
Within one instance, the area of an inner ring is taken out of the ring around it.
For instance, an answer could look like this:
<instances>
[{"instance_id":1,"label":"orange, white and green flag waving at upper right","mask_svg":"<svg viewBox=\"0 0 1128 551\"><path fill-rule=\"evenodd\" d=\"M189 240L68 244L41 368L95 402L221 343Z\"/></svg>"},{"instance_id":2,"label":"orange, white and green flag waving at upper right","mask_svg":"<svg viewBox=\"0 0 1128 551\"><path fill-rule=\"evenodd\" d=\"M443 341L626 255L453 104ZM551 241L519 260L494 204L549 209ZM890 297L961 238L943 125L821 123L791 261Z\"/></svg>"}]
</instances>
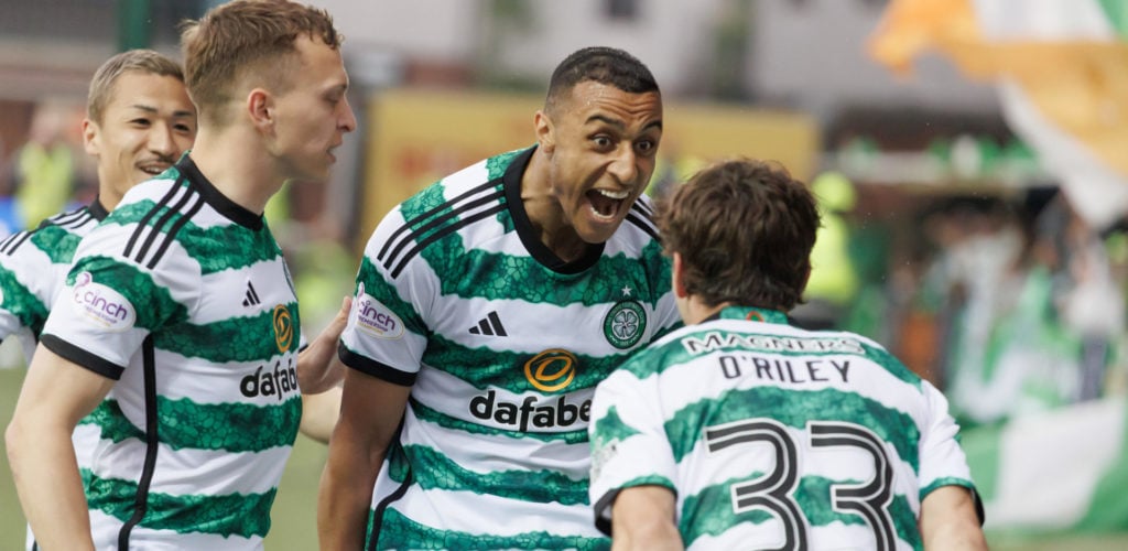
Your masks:
<instances>
[{"instance_id":1,"label":"orange, white and green flag waving at upper right","mask_svg":"<svg viewBox=\"0 0 1128 551\"><path fill-rule=\"evenodd\" d=\"M934 50L998 84L1012 130L1103 227L1128 213L1128 2L895 0L870 43L907 72Z\"/></svg>"}]
</instances>

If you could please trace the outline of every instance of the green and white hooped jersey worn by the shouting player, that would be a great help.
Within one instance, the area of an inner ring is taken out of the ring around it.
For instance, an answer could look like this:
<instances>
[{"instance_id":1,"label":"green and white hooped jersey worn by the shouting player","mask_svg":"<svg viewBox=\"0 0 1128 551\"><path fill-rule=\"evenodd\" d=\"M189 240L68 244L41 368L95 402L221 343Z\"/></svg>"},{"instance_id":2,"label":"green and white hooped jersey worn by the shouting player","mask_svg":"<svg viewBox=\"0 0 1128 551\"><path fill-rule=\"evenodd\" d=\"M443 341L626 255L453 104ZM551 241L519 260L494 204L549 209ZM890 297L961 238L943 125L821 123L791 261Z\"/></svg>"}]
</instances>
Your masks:
<instances>
[{"instance_id":1,"label":"green and white hooped jersey worn by the shouting player","mask_svg":"<svg viewBox=\"0 0 1128 551\"><path fill-rule=\"evenodd\" d=\"M341 357L414 385L369 549L609 544L588 505L591 396L680 323L669 263L645 200L605 246L562 263L520 200L531 155L441 180L368 243Z\"/></svg>"}]
</instances>

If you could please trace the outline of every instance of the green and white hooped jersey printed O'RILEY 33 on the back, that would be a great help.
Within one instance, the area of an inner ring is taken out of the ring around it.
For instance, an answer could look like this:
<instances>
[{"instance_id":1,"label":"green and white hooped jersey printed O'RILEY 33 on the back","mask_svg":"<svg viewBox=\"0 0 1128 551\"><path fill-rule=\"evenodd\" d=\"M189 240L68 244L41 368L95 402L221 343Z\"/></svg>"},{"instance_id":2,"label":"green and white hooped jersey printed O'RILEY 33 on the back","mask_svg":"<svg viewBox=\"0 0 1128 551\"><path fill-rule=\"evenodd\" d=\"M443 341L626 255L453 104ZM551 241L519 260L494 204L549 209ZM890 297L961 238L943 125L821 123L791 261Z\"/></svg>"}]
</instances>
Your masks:
<instances>
[{"instance_id":1,"label":"green and white hooped jersey printed O'RILEY 33 on the back","mask_svg":"<svg viewBox=\"0 0 1128 551\"><path fill-rule=\"evenodd\" d=\"M923 549L920 501L973 488L948 401L878 343L730 307L607 378L591 406L591 500L677 496L688 549Z\"/></svg>"}]
</instances>

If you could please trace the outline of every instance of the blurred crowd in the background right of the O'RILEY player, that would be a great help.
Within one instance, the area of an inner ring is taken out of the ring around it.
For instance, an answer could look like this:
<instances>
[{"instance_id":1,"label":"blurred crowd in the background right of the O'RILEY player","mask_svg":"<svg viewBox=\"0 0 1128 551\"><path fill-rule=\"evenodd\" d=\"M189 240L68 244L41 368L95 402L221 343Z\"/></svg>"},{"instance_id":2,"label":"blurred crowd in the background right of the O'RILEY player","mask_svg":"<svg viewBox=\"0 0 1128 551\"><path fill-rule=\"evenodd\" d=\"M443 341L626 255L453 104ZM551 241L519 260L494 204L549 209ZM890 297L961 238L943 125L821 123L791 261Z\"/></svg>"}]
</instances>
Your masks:
<instances>
[{"instance_id":1,"label":"blurred crowd in the background right of the O'RILEY player","mask_svg":"<svg viewBox=\"0 0 1128 551\"><path fill-rule=\"evenodd\" d=\"M907 207L838 215L856 281L846 299L828 294L839 327L897 350L964 427L1123 393L1123 227L1090 227L1052 186Z\"/></svg>"}]
</instances>

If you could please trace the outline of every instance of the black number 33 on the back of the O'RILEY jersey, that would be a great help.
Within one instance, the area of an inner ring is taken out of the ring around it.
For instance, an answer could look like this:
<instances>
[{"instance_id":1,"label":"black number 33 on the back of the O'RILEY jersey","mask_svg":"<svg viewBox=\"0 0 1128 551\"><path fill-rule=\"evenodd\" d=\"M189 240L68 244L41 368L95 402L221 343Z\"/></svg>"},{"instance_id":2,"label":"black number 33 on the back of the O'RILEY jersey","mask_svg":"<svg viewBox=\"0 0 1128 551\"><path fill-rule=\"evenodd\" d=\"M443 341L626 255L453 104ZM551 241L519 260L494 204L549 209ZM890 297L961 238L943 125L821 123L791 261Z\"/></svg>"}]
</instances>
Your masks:
<instances>
[{"instance_id":1,"label":"black number 33 on the back of the O'RILEY jersey","mask_svg":"<svg viewBox=\"0 0 1128 551\"><path fill-rule=\"evenodd\" d=\"M811 447L847 446L865 451L873 460L872 480L863 484L831 484L830 502L838 513L861 515L873 530L879 551L892 550L893 521L889 516L892 501L893 467L881 439L865 427L846 422L810 422ZM733 513L765 509L783 524L784 542L778 550L805 551L809 549L807 518L795 502L799 486L799 452L787 429L772 419L748 419L706 427L705 444L710 452L747 443L764 443L775 452L775 469L749 482L730 487Z\"/></svg>"}]
</instances>

